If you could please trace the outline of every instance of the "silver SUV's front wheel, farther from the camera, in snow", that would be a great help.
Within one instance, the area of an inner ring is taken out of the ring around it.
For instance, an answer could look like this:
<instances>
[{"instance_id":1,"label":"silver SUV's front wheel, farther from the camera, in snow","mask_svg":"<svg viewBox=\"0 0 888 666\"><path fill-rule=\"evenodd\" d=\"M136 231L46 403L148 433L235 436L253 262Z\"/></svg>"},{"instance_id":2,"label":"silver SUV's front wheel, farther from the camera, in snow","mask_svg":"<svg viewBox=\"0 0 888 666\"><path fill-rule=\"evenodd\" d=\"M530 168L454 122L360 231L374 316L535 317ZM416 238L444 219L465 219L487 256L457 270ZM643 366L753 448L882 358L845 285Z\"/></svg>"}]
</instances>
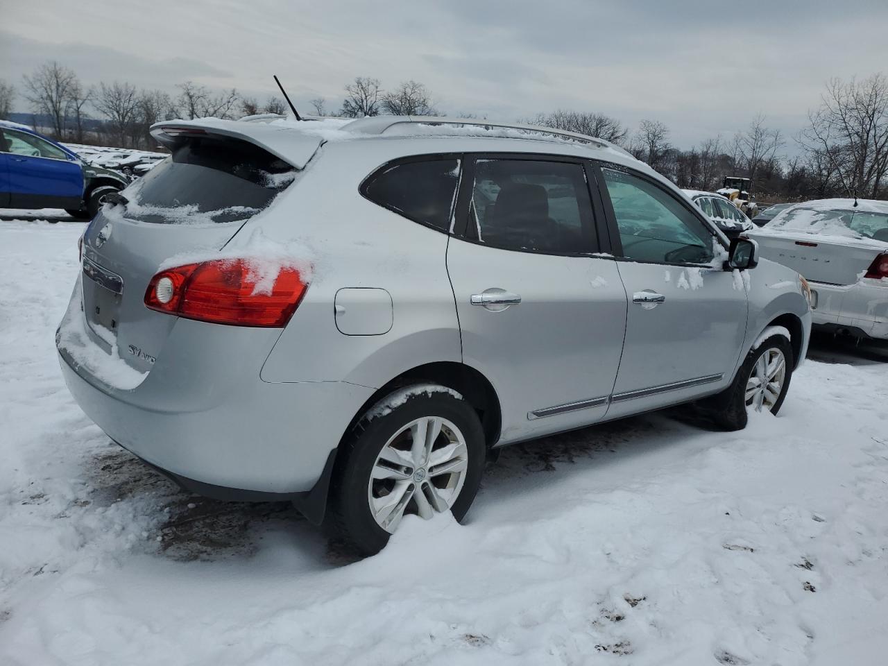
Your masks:
<instances>
[{"instance_id":1,"label":"silver SUV's front wheel, farther from the camera, in snow","mask_svg":"<svg viewBox=\"0 0 888 666\"><path fill-rule=\"evenodd\" d=\"M780 359L781 368L778 367ZM756 349L749 350L725 391L699 400L695 406L703 416L724 430L742 430L748 421L748 409L768 409L772 414L780 411L789 390L792 366L792 347L786 336L767 337ZM763 374L763 368L765 377L768 377L765 383L757 377Z\"/></svg>"}]
</instances>

